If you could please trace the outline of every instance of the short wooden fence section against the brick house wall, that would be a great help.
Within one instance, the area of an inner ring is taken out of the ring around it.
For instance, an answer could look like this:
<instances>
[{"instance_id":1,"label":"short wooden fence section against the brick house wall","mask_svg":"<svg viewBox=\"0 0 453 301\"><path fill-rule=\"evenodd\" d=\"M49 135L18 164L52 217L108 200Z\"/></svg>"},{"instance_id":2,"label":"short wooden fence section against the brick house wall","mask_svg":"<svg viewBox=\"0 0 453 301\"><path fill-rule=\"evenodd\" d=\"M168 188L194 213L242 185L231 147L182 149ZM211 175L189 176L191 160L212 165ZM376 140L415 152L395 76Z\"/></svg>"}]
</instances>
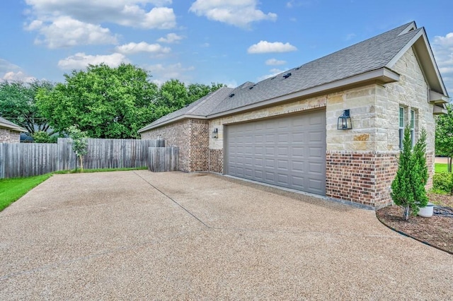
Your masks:
<instances>
[{"instance_id":1,"label":"short wooden fence section against the brick house wall","mask_svg":"<svg viewBox=\"0 0 453 301\"><path fill-rule=\"evenodd\" d=\"M178 170L179 148L149 148L149 165L151 172L173 172Z\"/></svg>"}]
</instances>

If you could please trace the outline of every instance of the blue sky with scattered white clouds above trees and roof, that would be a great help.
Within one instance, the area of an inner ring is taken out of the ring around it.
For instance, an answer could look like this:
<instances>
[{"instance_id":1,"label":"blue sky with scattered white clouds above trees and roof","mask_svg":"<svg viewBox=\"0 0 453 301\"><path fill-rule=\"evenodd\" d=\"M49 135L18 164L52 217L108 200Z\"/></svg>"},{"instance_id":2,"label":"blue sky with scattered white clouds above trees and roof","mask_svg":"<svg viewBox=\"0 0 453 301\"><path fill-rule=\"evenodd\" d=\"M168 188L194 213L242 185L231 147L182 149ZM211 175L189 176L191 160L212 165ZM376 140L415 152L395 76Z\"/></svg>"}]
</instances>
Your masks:
<instances>
[{"instance_id":1,"label":"blue sky with scattered white clouds above trees and roof","mask_svg":"<svg viewBox=\"0 0 453 301\"><path fill-rule=\"evenodd\" d=\"M415 20L452 96L452 12L451 0L4 0L0 80L127 62L156 83L236 86Z\"/></svg>"}]
</instances>

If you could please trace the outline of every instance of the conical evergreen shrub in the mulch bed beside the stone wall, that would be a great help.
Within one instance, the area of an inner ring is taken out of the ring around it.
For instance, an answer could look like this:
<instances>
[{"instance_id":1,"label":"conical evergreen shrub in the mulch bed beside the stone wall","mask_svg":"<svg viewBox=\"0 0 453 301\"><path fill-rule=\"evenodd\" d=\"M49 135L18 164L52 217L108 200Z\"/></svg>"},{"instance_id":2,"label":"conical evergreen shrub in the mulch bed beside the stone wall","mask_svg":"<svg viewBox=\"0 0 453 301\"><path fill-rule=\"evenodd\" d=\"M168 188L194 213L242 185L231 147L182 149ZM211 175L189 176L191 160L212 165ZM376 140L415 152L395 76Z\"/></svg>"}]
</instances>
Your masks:
<instances>
[{"instance_id":1,"label":"conical evergreen shrub in the mulch bed beside the stone wall","mask_svg":"<svg viewBox=\"0 0 453 301\"><path fill-rule=\"evenodd\" d=\"M428 182L426 166L426 131L420 131L420 138L412 149L411 130L404 129L403 150L398 159L398 171L391 183L391 199L396 205L404 208L403 218L417 214L420 207L428 203L425 185Z\"/></svg>"}]
</instances>

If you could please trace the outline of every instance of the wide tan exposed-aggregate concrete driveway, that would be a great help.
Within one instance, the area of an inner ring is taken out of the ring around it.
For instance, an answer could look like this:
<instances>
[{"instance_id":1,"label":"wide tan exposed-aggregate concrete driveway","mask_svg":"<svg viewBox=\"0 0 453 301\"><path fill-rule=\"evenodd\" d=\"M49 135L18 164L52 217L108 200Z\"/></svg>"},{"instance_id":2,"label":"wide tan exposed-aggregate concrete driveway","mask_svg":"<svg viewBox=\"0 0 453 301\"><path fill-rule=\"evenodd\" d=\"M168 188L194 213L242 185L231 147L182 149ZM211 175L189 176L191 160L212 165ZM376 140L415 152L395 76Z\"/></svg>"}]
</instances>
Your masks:
<instances>
[{"instance_id":1,"label":"wide tan exposed-aggregate concrete driveway","mask_svg":"<svg viewBox=\"0 0 453 301\"><path fill-rule=\"evenodd\" d=\"M0 300L447 300L373 211L217 175L55 175L0 213Z\"/></svg>"}]
</instances>

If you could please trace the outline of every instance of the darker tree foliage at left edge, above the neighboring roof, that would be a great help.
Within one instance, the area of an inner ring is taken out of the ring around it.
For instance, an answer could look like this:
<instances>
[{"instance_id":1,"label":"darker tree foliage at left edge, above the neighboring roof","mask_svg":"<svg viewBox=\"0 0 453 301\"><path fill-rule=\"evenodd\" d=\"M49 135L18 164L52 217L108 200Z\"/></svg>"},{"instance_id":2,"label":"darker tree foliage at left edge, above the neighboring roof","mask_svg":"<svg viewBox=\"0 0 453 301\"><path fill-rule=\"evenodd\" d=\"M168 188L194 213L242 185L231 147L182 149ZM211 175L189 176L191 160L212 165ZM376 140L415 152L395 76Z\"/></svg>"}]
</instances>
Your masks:
<instances>
[{"instance_id":1,"label":"darker tree foliage at left edge, above the neighboring roof","mask_svg":"<svg viewBox=\"0 0 453 301\"><path fill-rule=\"evenodd\" d=\"M38 131L50 131L47 119L36 105L36 95L40 89L50 91L52 88L49 81L0 82L0 116L27 129L31 136Z\"/></svg>"}]
</instances>

